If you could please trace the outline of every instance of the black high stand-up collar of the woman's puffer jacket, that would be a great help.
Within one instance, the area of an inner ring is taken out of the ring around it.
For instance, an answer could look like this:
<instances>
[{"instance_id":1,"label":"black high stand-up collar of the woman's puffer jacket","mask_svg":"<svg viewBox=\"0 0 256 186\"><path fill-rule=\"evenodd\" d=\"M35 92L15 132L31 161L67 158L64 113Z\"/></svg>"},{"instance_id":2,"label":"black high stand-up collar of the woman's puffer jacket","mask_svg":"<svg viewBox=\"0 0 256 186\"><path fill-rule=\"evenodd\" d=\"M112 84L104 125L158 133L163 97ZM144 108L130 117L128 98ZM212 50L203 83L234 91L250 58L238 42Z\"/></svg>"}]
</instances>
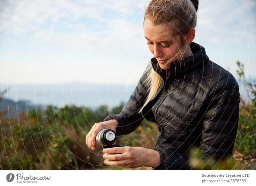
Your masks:
<instances>
[{"instance_id":1,"label":"black high stand-up collar of the woman's puffer jacket","mask_svg":"<svg viewBox=\"0 0 256 186\"><path fill-rule=\"evenodd\" d=\"M195 42L190 43L189 46L193 55L189 56L188 58L175 60L170 63L169 78L178 75L185 75L191 71L195 71L196 69L203 67L204 64L209 61L209 57L206 55L204 47ZM151 64L156 73L158 73L164 81L168 79L167 70L160 68L156 58L151 58Z\"/></svg>"}]
</instances>

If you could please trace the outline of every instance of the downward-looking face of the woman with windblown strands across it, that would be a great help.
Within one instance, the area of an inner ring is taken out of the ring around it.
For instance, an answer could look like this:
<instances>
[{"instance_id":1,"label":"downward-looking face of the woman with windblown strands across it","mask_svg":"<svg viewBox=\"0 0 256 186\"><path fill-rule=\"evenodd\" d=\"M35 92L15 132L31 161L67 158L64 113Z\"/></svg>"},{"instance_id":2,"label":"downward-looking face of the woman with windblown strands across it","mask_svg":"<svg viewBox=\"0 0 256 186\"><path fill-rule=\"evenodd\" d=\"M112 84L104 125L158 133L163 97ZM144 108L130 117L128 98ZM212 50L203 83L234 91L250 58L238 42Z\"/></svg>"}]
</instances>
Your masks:
<instances>
[{"instance_id":1,"label":"downward-looking face of the woman with windblown strands across it","mask_svg":"<svg viewBox=\"0 0 256 186\"><path fill-rule=\"evenodd\" d=\"M169 69L170 63L180 58L177 57L182 48L180 35L172 36L170 27L166 27L166 24L154 25L149 19L145 19L144 34L150 52L162 69Z\"/></svg>"}]
</instances>

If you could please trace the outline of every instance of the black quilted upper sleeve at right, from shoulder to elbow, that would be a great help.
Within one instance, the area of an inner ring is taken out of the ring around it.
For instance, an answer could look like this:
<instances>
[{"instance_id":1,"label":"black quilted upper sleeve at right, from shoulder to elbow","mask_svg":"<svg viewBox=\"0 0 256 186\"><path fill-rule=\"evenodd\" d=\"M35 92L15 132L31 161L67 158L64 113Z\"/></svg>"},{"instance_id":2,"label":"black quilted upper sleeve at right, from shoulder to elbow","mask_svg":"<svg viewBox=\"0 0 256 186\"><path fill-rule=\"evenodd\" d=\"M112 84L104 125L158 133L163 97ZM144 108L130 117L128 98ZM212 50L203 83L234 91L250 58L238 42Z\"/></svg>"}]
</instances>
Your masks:
<instances>
[{"instance_id":1,"label":"black quilted upper sleeve at right, from shoulder to elbow","mask_svg":"<svg viewBox=\"0 0 256 186\"><path fill-rule=\"evenodd\" d=\"M209 106L203 117L202 156L220 160L233 155L236 139L240 93L232 76L218 81L210 90Z\"/></svg>"}]
</instances>

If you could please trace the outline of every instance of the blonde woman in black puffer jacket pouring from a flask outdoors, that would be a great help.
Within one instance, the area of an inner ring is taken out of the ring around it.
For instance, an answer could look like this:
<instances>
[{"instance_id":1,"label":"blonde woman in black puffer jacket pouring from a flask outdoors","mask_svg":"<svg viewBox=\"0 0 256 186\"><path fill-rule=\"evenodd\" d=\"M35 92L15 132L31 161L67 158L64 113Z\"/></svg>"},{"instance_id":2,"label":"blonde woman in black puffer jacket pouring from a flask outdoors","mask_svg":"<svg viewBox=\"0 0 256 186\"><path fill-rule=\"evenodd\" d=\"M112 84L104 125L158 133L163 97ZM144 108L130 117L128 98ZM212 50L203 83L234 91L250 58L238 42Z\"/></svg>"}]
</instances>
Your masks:
<instances>
[{"instance_id":1,"label":"blonde woman in black puffer jacket pouring from a flask outdoors","mask_svg":"<svg viewBox=\"0 0 256 186\"><path fill-rule=\"evenodd\" d=\"M209 60L195 38L198 0L152 0L144 16L144 33L153 54L138 86L120 114L95 123L86 136L94 149L103 128L127 135L143 119L157 123L159 137L152 149L104 149L110 166L189 170L189 149L200 147L202 158L232 157L240 94L236 79Z\"/></svg>"}]
</instances>

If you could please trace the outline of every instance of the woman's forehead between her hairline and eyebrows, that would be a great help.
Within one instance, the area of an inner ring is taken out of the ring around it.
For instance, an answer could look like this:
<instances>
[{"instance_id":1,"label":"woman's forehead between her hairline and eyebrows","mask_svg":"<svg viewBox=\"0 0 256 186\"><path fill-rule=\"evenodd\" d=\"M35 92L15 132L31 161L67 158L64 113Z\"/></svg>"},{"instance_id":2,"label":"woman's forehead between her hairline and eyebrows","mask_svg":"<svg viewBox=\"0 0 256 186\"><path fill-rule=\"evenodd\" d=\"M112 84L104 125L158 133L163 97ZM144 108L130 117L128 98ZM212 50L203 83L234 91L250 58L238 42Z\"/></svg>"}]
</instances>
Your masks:
<instances>
[{"instance_id":1,"label":"woman's forehead between her hairline and eyebrows","mask_svg":"<svg viewBox=\"0 0 256 186\"><path fill-rule=\"evenodd\" d=\"M175 39L175 36L172 32L173 26L171 23L161 23L154 25L149 19L145 19L143 28L145 37L151 41L171 41Z\"/></svg>"}]
</instances>

